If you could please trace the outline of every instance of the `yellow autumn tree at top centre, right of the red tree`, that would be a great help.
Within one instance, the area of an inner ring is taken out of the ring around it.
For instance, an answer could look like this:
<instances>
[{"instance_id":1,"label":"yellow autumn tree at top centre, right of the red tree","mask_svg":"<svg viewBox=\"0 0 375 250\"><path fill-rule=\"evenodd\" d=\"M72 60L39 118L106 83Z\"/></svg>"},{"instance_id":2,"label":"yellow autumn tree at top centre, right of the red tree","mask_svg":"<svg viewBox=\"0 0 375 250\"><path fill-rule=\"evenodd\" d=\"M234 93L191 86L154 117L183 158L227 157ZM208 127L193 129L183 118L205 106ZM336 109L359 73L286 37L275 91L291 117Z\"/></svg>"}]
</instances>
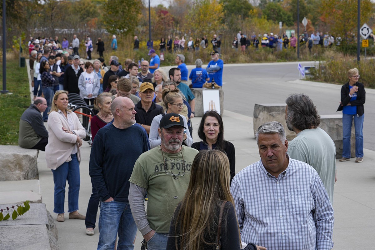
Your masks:
<instances>
[{"instance_id":1,"label":"yellow autumn tree at top centre, right of the red tree","mask_svg":"<svg viewBox=\"0 0 375 250\"><path fill-rule=\"evenodd\" d=\"M223 24L223 6L216 0L195 0L185 16L194 37L218 33Z\"/></svg>"}]
</instances>

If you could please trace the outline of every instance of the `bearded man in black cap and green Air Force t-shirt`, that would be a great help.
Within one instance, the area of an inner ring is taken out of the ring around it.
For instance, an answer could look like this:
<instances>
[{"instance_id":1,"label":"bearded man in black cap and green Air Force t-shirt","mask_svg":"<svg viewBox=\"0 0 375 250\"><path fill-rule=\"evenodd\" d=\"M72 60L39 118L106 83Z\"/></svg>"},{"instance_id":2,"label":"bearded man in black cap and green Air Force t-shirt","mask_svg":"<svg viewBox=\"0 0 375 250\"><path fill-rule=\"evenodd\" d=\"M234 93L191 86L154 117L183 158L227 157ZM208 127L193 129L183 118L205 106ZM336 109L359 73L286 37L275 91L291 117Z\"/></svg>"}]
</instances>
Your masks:
<instances>
[{"instance_id":1,"label":"bearded man in black cap and green Air Force t-shirt","mask_svg":"<svg viewBox=\"0 0 375 250\"><path fill-rule=\"evenodd\" d=\"M139 156L129 179L130 209L148 250L166 249L174 209L185 195L190 168L198 154L198 150L182 145L184 129L180 115L165 114L158 129L161 145Z\"/></svg>"}]
</instances>

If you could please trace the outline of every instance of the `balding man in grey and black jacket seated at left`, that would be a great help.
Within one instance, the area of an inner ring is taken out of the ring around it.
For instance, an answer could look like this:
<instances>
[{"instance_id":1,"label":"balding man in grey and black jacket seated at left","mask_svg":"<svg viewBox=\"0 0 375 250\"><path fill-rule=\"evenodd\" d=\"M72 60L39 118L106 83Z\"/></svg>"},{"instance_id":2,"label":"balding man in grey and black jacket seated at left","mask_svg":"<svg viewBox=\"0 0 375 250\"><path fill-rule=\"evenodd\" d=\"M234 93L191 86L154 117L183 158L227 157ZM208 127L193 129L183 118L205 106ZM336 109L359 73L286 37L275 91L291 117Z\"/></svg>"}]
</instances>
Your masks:
<instances>
[{"instance_id":1,"label":"balding man in grey and black jacket seated at left","mask_svg":"<svg viewBox=\"0 0 375 250\"><path fill-rule=\"evenodd\" d=\"M20 119L20 133L18 145L21 148L33 148L45 151L48 143L48 131L43 124L40 114L47 108L47 101L43 97L36 97L34 104L31 104Z\"/></svg>"}]
</instances>

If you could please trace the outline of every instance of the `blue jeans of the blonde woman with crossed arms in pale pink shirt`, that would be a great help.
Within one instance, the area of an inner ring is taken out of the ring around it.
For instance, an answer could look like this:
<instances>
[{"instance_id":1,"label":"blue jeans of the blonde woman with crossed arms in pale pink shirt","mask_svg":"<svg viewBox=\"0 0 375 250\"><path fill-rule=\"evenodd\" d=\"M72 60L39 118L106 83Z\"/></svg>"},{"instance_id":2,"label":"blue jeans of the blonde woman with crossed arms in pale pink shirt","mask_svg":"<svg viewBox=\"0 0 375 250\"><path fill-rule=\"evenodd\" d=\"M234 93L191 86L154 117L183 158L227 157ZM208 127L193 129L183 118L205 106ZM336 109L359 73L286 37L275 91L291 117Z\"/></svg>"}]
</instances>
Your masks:
<instances>
[{"instance_id":1,"label":"blue jeans of the blonde woman with crossed arms in pale pink shirt","mask_svg":"<svg viewBox=\"0 0 375 250\"><path fill-rule=\"evenodd\" d=\"M54 213L64 213L65 185L68 180L68 212L72 213L78 210L78 194L80 193L80 163L77 154L71 155L70 162L64 162L57 169L52 169L53 182L55 183L55 208Z\"/></svg>"}]
</instances>

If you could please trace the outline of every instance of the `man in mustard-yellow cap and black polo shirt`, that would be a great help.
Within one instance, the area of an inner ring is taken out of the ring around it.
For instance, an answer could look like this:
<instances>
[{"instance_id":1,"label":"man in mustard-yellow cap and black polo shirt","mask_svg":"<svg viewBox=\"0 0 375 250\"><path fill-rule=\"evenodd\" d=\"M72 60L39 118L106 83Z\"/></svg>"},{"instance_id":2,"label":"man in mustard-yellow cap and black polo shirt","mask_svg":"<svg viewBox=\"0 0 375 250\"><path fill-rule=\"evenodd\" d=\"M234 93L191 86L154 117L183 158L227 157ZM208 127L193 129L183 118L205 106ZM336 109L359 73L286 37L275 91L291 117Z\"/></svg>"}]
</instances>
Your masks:
<instances>
[{"instance_id":1,"label":"man in mustard-yellow cap and black polo shirt","mask_svg":"<svg viewBox=\"0 0 375 250\"><path fill-rule=\"evenodd\" d=\"M139 97L141 100L135 105L135 121L147 132L150 133L150 126L156 115L163 114L163 108L156 105L152 99L154 98L154 87L150 82L143 82L139 88Z\"/></svg>"}]
</instances>

